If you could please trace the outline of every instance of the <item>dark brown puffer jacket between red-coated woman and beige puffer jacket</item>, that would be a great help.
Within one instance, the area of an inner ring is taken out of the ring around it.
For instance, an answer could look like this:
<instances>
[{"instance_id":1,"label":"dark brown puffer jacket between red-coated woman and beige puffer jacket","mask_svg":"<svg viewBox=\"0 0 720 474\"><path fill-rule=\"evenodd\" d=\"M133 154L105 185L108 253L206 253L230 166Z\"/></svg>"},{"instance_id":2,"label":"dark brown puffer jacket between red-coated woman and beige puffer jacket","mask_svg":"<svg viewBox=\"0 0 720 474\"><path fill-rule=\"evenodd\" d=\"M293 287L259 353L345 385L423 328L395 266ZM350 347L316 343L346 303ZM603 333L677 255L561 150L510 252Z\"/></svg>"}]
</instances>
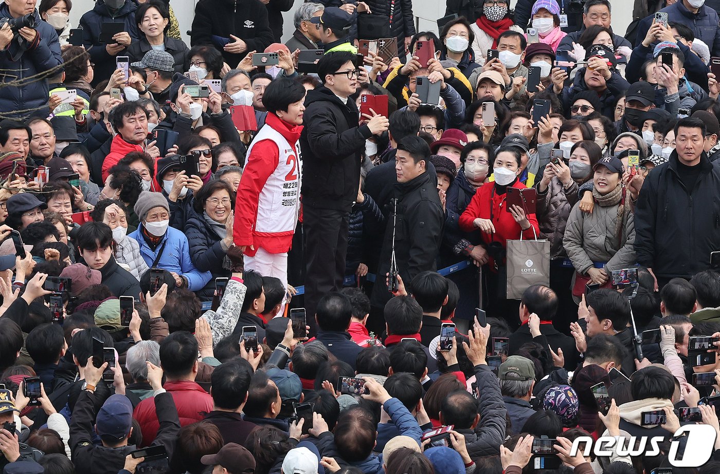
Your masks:
<instances>
[{"instance_id":1,"label":"dark brown puffer jacket between red-coated woman and beige puffer jacket","mask_svg":"<svg viewBox=\"0 0 720 474\"><path fill-rule=\"evenodd\" d=\"M562 237L572 206L577 202L577 183L572 181L570 187L565 188L558 178L552 178L544 193L538 186L539 183L535 185L538 190L535 217L540 232L550 241L550 258L565 257L567 252L562 247Z\"/></svg>"}]
</instances>

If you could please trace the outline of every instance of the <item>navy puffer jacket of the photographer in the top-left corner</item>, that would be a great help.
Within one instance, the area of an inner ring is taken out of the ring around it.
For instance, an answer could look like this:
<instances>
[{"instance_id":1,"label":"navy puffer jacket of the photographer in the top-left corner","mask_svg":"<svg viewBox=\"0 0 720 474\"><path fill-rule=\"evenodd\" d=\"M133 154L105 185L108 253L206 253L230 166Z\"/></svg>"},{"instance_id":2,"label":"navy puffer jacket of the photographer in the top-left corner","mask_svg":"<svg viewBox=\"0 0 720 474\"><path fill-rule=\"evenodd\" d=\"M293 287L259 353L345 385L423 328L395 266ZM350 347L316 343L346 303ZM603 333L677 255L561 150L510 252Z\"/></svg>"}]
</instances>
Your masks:
<instances>
[{"instance_id":1,"label":"navy puffer jacket of the photographer in the top-left corner","mask_svg":"<svg viewBox=\"0 0 720 474\"><path fill-rule=\"evenodd\" d=\"M37 10L35 15L38 19L35 31L38 34L32 45L28 45L27 41L18 35L0 55L0 68L6 71L3 77L5 83L16 80L22 81L63 64L63 58L60 56L58 33L50 24L40 19ZM3 2L0 4L0 17L9 18L10 16L8 6ZM27 50L17 60L12 60L12 56L19 53L19 42L21 41L27 47ZM55 74L50 73L50 76ZM47 78L27 83L22 87L4 87L0 89L0 110L7 116L20 119L25 119L33 113L47 115L49 112L47 109L49 94L50 84ZM43 110L42 107L45 107L45 109ZM38 111L26 110L36 108ZM42 115L42 117L45 117L45 115Z\"/></svg>"}]
</instances>

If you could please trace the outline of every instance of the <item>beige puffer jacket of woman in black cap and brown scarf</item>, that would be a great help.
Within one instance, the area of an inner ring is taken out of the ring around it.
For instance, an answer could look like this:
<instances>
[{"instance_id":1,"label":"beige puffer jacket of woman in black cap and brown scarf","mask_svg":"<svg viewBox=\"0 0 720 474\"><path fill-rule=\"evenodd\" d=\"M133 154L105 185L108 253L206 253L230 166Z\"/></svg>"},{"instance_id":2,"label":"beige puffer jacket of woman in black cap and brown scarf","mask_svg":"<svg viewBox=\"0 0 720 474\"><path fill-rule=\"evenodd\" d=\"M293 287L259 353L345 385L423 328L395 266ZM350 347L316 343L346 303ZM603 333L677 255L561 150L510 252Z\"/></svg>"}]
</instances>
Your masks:
<instances>
[{"instance_id":1,"label":"beige puffer jacket of woman in black cap and brown scarf","mask_svg":"<svg viewBox=\"0 0 720 474\"><path fill-rule=\"evenodd\" d=\"M608 272L628 268L635 263L635 224L630 211L623 214L621 235L615 234L618 206L598 206L592 214L575 204L567 219L564 248L572 265L584 275L594 262L606 263ZM618 243L619 237L619 243Z\"/></svg>"}]
</instances>

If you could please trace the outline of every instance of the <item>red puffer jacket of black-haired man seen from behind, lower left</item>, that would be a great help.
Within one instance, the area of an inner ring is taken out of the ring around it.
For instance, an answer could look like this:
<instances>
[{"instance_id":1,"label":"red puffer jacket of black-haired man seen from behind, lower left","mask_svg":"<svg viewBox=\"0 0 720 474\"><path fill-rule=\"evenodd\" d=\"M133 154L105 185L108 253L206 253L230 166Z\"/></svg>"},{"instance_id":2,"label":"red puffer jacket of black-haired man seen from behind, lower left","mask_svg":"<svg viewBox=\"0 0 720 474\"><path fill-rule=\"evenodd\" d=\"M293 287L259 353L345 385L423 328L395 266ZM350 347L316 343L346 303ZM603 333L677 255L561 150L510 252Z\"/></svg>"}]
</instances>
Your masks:
<instances>
[{"instance_id":1,"label":"red puffer jacket of black-haired man seen from behind, lower left","mask_svg":"<svg viewBox=\"0 0 720 474\"><path fill-rule=\"evenodd\" d=\"M204 419L212 411L212 396L192 380L166 382L163 388L173 396L182 427ZM143 432L142 447L150 445L160 428L154 399L150 397L141 401L135 406L132 417L140 423Z\"/></svg>"}]
</instances>

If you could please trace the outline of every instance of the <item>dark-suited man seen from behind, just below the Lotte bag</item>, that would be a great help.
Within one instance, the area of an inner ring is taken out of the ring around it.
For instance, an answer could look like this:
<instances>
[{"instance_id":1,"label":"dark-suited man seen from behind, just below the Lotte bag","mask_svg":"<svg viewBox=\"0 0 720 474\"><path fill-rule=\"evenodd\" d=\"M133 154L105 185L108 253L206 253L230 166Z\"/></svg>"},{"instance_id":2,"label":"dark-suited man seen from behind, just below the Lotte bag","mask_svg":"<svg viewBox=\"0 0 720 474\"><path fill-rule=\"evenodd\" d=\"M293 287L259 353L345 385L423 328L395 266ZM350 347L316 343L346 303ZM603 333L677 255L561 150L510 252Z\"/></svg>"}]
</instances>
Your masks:
<instances>
[{"instance_id":1,"label":"dark-suited man seen from behind, just below the Lotte bag","mask_svg":"<svg viewBox=\"0 0 720 474\"><path fill-rule=\"evenodd\" d=\"M533 285L526 289L520 301L520 328L510 334L510 354L515 354L526 342L539 342L556 355L562 355L567 370L577 367L579 354L575 339L562 334L552 325L557 304L557 294L547 286Z\"/></svg>"}]
</instances>

